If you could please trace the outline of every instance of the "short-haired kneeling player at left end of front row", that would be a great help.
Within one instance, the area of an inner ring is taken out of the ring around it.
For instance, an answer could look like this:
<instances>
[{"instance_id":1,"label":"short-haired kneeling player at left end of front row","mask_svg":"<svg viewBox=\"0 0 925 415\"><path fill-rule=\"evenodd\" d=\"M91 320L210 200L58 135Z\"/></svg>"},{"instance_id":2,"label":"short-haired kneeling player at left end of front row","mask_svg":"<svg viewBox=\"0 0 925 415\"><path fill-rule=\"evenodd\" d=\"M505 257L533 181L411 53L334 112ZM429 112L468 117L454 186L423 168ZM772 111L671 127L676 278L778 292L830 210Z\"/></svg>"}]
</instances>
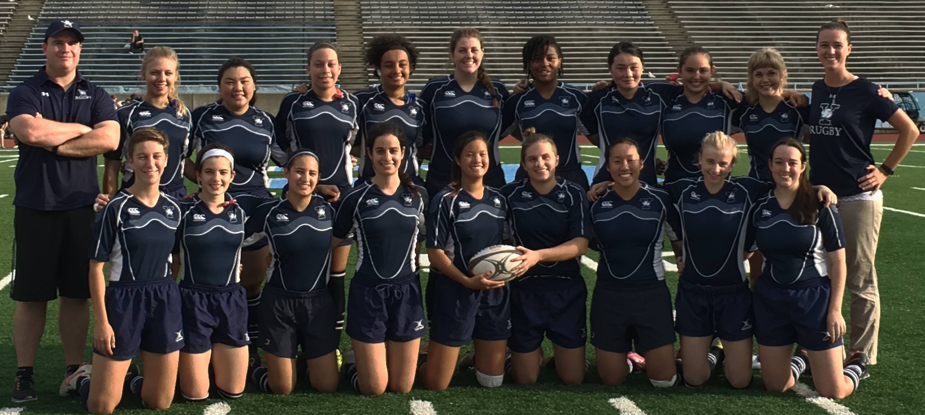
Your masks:
<instances>
[{"instance_id":1,"label":"short-haired kneeling player at left end of front row","mask_svg":"<svg viewBox=\"0 0 925 415\"><path fill-rule=\"evenodd\" d=\"M149 409L167 409L173 401L184 338L180 294L170 278L169 261L180 208L159 190L166 151L163 132L145 128L132 133L126 159L135 182L106 205L93 225L93 382L86 376L75 379L92 413L112 413L123 389L141 396ZM110 262L108 287L105 262ZM140 351L143 382L131 363Z\"/></svg>"}]
</instances>

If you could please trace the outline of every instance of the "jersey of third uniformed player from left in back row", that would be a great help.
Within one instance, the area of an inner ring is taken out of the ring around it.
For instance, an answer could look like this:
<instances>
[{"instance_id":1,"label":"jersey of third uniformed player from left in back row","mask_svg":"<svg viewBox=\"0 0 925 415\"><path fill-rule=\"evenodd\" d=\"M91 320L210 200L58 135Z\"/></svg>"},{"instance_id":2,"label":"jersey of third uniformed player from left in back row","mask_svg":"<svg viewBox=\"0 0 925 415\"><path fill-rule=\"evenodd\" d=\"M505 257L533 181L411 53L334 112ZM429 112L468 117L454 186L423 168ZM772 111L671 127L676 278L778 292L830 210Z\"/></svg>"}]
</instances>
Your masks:
<instances>
[{"instance_id":1,"label":"jersey of third uniformed player from left in back row","mask_svg":"<svg viewBox=\"0 0 925 415\"><path fill-rule=\"evenodd\" d=\"M356 96L347 93L329 102L311 89L305 94L287 94L276 118L279 145L286 151L312 150L320 161L319 184L349 187L353 182L350 149L356 141L359 108Z\"/></svg>"}]
</instances>

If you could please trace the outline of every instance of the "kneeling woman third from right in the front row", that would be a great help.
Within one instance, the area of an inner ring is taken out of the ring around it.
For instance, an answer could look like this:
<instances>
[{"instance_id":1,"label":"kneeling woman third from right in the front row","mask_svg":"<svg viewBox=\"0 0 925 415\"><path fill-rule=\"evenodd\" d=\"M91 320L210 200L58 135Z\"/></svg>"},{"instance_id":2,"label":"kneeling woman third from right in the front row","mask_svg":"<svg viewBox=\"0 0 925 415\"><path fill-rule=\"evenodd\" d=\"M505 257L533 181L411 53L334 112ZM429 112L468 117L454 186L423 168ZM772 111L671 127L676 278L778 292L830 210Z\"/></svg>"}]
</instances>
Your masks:
<instances>
[{"instance_id":1,"label":"kneeling woman third from right in the front row","mask_svg":"<svg viewBox=\"0 0 925 415\"><path fill-rule=\"evenodd\" d=\"M662 233L680 251L681 223L669 195L639 182L643 168L639 145L624 139L605 153L613 183L591 205L600 252L598 283L591 299L591 344L604 384L623 384L632 370L626 354L635 349L646 358L649 381L656 387L677 384L674 362L672 295L661 265Z\"/></svg>"}]
</instances>

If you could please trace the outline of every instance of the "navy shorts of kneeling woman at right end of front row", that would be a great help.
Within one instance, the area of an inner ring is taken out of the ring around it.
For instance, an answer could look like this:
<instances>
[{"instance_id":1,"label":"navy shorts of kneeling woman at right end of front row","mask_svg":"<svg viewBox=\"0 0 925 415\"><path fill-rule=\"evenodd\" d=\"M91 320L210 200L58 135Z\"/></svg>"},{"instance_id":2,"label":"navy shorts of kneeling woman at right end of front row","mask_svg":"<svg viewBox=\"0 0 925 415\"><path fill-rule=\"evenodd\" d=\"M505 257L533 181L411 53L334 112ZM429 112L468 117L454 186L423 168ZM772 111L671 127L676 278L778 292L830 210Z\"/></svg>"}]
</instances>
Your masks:
<instances>
[{"instance_id":1,"label":"navy shorts of kneeling woman at right end of front row","mask_svg":"<svg viewBox=\"0 0 925 415\"><path fill-rule=\"evenodd\" d=\"M755 338L761 346L790 346L798 343L808 350L828 350L842 346L828 332L828 278L785 286L760 276L755 283Z\"/></svg>"}]
</instances>

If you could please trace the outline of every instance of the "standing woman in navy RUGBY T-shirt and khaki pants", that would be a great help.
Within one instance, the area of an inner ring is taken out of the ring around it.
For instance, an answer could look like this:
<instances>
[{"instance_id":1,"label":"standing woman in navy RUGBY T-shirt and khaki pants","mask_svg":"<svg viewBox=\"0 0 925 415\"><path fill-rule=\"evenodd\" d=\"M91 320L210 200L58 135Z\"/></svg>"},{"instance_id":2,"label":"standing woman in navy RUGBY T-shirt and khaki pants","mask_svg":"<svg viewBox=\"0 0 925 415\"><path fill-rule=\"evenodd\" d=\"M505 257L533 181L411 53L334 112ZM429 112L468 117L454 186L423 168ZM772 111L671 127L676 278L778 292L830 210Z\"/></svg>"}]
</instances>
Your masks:
<instances>
[{"instance_id":1,"label":"standing woman in navy RUGBY T-shirt and khaki pants","mask_svg":"<svg viewBox=\"0 0 925 415\"><path fill-rule=\"evenodd\" d=\"M873 365L877 363L880 329L874 258L883 214L881 186L906 157L919 131L892 100L877 96L876 84L848 71L845 64L851 48L851 31L844 20L820 27L816 55L825 77L812 88L809 180L829 186L838 195L845 226L845 286L851 299L851 340L845 362L866 360ZM870 154L877 119L889 122L899 133L893 150L879 167ZM836 363L841 362L831 362Z\"/></svg>"}]
</instances>

